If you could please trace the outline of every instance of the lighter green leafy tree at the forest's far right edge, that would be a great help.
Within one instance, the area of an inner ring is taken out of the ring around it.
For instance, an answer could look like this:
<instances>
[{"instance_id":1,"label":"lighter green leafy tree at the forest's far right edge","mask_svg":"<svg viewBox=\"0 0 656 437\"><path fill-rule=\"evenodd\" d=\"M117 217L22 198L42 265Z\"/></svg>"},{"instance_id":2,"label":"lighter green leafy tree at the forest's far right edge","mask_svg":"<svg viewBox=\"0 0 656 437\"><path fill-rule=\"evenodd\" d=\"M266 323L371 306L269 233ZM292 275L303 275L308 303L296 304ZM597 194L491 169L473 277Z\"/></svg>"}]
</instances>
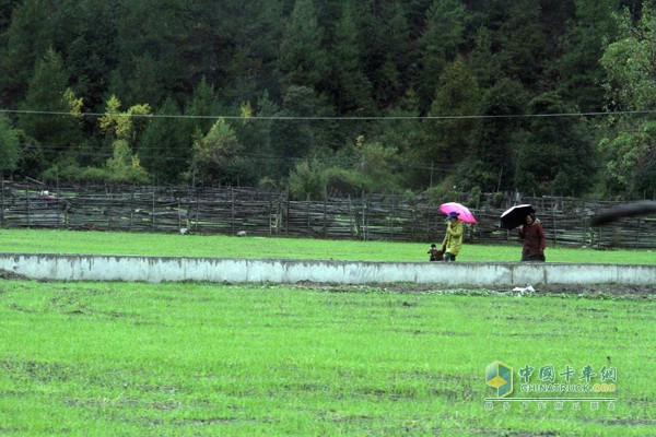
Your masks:
<instances>
[{"instance_id":1,"label":"lighter green leafy tree at the forest's far right edge","mask_svg":"<svg viewBox=\"0 0 656 437\"><path fill-rule=\"evenodd\" d=\"M606 194L620 192L641 199L656 192L656 122L652 113L656 102L656 4L645 3L639 20L626 9L617 16L617 23L619 36L606 46L601 58L605 87L614 106L648 114L610 119L599 151L606 162Z\"/></svg>"}]
</instances>

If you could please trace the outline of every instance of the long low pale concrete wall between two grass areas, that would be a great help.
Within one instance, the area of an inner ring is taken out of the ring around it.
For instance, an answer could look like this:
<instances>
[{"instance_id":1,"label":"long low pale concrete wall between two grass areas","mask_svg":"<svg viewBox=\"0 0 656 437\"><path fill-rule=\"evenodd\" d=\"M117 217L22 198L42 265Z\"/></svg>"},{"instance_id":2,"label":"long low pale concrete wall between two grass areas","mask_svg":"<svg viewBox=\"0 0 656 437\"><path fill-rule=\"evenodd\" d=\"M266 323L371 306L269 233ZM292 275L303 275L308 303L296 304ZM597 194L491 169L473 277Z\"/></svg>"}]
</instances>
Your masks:
<instances>
[{"instance_id":1,"label":"long low pale concrete wall between two grass areas","mask_svg":"<svg viewBox=\"0 0 656 437\"><path fill-rule=\"evenodd\" d=\"M354 262L282 259L0 253L0 272L58 281L298 281L441 285L651 285L656 265L517 262Z\"/></svg>"}]
</instances>

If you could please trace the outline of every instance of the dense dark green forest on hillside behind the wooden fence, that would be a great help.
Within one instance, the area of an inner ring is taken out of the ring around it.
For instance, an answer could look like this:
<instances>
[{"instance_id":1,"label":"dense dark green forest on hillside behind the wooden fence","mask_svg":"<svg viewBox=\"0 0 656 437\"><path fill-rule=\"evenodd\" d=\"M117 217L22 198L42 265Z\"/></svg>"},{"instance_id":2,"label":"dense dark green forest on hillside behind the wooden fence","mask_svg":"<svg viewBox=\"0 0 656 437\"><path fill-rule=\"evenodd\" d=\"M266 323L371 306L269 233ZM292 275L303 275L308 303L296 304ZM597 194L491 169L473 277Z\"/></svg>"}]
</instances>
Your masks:
<instances>
[{"instance_id":1,"label":"dense dark green forest on hillside behind the wooden fence","mask_svg":"<svg viewBox=\"0 0 656 437\"><path fill-rule=\"evenodd\" d=\"M652 0L0 0L0 172L656 196Z\"/></svg>"}]
</instances>

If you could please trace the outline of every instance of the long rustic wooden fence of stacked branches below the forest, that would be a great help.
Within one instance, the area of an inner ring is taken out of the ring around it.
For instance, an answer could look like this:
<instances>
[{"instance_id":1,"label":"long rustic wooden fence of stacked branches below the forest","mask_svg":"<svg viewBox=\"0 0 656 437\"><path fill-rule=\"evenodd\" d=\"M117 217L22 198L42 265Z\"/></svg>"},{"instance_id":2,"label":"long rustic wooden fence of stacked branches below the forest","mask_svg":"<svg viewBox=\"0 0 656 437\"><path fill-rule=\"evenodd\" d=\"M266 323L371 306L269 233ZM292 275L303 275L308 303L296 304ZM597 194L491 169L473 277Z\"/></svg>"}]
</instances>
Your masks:
<instances>
[{"instance_id":1,"label":"long rustic wooden fence of stacked branches below the forest","mask_svg":"<svg viewBox=\"0 0 656 437\"><path fill-rule=\"evenodd\" d=\"M613 202L565 198L485 197L470 210L476 225L466 241L517 241L499 227L503 211L531 203L550 244L598 248L656 248L656 215L623 218L602 227L591 217ZM458 201L458 199L454 199ZM285 193L248 188L45 187L2 182L0 226L126 232L188 232L251 236L440 243L444 214L417 197L292 201Z\"/></svg>"}]
</instances>

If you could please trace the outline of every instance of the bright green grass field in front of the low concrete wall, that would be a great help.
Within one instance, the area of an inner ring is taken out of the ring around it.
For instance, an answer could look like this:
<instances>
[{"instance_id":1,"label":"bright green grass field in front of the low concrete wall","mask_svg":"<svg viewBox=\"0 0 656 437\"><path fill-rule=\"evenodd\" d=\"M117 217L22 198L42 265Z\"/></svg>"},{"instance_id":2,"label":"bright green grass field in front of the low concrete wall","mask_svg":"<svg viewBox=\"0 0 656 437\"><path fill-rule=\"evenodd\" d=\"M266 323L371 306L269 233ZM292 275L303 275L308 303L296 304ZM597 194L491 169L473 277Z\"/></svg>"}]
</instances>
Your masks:
<instances>
[{"instance_id":1,"label":"bright green grass field in front of the low concrete wall","mask_svg":"<svg viewBox=\"0 0 656 437\"><path fill-rule=\"evenodd\" d=\"M655 304L4 281L0 434L653 436ZM614 411L489 411L495 359L612 366Z\"/></svg>"}]
</instances>

